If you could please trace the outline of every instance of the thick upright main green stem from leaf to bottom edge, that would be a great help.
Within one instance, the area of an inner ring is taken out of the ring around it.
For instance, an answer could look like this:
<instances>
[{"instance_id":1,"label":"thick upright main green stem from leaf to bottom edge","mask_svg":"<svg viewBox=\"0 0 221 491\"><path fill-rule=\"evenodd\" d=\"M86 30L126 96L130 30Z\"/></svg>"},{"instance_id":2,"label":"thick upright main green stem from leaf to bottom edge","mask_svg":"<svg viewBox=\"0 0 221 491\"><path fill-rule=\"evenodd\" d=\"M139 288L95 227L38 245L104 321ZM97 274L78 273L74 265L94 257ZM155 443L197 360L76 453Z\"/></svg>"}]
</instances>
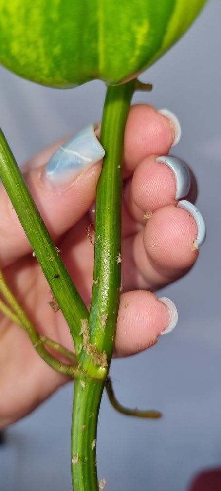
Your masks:
<instances>
[{"instance_id":1,"label":"thick upright main green stem from leaf to bottom edge","mask_svg":"<svg viewBox=\"0 0 221 491\"><path fill-rule=\"evenodd\" d=\"M83 343L78 357L85 377L79 374L81 378L75 382L73 403L71 468L75 491L98 491L96 447L92 449L92 442L96 440L100 400L116 332L121 286L123 142L135 84L134 80L108 87L104 104L101 143L105 157L96 195L94 280L98 281L93 285L89 340ZM102 363L99 354L103 355Z\"/></svg>"}]
</instances>

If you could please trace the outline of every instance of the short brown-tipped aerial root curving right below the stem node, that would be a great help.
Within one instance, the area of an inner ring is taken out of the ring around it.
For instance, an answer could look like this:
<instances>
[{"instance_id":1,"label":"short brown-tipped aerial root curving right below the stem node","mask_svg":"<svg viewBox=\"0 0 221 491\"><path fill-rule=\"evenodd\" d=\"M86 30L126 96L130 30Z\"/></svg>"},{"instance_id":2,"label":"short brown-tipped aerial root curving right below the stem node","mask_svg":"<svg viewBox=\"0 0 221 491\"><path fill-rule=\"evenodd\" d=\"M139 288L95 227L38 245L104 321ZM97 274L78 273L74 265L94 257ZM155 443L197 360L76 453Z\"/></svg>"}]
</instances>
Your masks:
<instances>
[{"instance_id":1,"label":"short brown-tipped aerial root curving right below the stem node","mask_svg":"<svg viewBox=\"0 0 221 491\"><path fill-rule=\"evenodd\" d=\"M118 412L121 412L121 414L125 414L125 416L136 416L137 418L145 418L145 419L147 418L158 419L162 417L162 413L159 411L155 411L155 410L141 411L140 409L137 408L129 409L122 406L115 397L110 377L107 378L105 387L111 405Z\"/></svg>"}]
</instances>

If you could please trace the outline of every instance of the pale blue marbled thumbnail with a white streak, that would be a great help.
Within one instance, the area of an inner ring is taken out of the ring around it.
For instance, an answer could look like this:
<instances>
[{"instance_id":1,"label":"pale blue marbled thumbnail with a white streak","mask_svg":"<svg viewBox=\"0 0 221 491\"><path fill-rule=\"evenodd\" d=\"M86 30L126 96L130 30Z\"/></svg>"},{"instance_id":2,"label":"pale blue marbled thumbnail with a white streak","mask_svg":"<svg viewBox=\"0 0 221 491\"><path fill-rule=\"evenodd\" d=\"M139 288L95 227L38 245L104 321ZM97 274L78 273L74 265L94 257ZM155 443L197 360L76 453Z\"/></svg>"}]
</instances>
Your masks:
<instances>
[{"instance_id":1,"label":"pale blue marbled thumbnail with a white streak","mask_svg":"<svg viewBox=\"0 0 221 491\"><path fill-rule=\"evenodd\" d=\"M51 157L42 179L49 191L65 191L83 171L104 157L105 151L91 124L66 141Z\"/></svg>"}]
</instances>

